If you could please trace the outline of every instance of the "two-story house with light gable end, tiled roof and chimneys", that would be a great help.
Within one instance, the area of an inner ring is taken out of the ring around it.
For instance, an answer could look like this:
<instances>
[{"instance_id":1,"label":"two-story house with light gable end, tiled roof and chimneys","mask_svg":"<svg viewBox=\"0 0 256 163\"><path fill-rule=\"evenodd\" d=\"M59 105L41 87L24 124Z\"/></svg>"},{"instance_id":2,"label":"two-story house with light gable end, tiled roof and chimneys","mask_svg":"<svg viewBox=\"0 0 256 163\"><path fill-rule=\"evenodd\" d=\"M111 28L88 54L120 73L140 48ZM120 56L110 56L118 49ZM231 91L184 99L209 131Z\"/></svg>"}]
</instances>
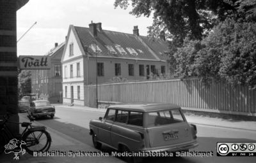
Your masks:
<instances>
[{"instance_id":1,"label":"two-story house with light gable end, tiled roof and chimneys","mask_svg":"<svg viewBox=\"0 0 256 163\"><path fill-rule=\"evenodd\" d=\"M101 23L89 27L70 25L61 59L63 103L84 105L84 85L109 83L115 76L145 80L150 73L168 73L168 45L162 39L107 31Z\"/></svg>"}]
</instances>

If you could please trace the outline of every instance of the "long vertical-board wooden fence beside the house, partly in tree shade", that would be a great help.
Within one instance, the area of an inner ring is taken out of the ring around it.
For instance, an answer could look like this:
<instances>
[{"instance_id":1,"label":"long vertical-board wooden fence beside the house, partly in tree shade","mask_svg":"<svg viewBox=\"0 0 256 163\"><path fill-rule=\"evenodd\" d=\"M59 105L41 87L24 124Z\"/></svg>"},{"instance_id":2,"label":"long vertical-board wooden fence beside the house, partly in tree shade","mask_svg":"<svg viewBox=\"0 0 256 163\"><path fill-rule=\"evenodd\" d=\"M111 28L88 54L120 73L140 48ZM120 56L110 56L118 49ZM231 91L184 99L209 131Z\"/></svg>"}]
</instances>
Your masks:
<instances>
[{"instance_id":1,"label":"long vertical-board wooden fence beside the house, partly in tree shade","mask_svg":"<svg viewBox=\"0 0 256 163\"><path fill-rule=\"evenodd\" d=\"M84 87L86 106L96 105L95 85ZM99 101L163 102L215 112L256 113L256 91L223 83L205 86L198 79L159 80L98 85Z\"/></svg>"}]
</instances>

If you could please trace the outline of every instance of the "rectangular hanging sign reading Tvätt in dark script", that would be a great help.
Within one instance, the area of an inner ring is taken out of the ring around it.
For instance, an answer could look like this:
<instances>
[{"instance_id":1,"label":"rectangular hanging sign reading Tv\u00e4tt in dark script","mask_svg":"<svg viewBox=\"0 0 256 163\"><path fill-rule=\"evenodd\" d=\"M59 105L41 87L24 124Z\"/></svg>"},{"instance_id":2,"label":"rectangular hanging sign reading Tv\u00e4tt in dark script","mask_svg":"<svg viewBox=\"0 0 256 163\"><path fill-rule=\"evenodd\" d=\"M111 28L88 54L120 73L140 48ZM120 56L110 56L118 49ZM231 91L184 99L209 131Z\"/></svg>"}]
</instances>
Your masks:
<instances>
[{"instance_id":1,"label":"rectangular hanging sign reading Tv\u00e4tt in dark script","mask_svg":"<svg viewBox=\"0 0 256 163\"><path fill-rule=\"evenodd\" d=\"M20 55L20 69L51 69L51 62L47 55Z\"/></svg>"}]
</instances>

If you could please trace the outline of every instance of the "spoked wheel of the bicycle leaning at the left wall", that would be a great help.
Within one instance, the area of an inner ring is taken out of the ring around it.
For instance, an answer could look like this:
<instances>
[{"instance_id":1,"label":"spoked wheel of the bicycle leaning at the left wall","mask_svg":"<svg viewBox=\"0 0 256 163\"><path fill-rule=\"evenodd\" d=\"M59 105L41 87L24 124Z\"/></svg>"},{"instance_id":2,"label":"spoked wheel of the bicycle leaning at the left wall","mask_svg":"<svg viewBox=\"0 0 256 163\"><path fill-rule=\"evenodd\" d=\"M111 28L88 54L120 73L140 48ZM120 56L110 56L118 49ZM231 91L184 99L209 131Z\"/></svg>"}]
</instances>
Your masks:
<instances>
[{"instance_id":1,"label":"spoked wheel of the bicycle leaning at the left wall","mask_svg":"<svg viewBox=\"0 0 256 163\"><path fill-rule=\"evenodd\" d=\"M26 152L33 155L33 152L45 152L51 146L51 136L45 130L28 131L24 134Z\"/></svg>"}]
</instances>

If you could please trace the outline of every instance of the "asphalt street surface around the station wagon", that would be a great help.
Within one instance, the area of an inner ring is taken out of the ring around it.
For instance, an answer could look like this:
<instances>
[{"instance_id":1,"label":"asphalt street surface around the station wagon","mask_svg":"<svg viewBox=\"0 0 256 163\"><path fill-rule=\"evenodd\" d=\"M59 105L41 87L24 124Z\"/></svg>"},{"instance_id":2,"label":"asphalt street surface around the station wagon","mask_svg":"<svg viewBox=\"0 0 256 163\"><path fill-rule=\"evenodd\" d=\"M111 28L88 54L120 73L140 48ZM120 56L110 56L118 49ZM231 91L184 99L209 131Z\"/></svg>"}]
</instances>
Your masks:
<instances>
[{"instance_id":1,"label":"asphalt street surface around the station wagon","mask_svg":"<svg viewBox=\"0 0 256 163\"><path fill-rule=\"evenodd\" d=\"M26 114L26 113L22 113ZM61 108L56 106L56 117L36 120L46 127L66 134L89 146L93 146L92 137L89 135L89 122L92 119L103 117L104 113ZM223 127L209 127L197 125L198 147L191 149L195 152L213 152L213 157L154 157L145 158L143 162L256 162L256 157L217 157L217 142L256 142L255 132ZM52 138L54 139L54 138ZM111 152L108 146L102 146L103 152ZM104 158L103 158L104 159Z\"/></svg>"}]
</instances>

